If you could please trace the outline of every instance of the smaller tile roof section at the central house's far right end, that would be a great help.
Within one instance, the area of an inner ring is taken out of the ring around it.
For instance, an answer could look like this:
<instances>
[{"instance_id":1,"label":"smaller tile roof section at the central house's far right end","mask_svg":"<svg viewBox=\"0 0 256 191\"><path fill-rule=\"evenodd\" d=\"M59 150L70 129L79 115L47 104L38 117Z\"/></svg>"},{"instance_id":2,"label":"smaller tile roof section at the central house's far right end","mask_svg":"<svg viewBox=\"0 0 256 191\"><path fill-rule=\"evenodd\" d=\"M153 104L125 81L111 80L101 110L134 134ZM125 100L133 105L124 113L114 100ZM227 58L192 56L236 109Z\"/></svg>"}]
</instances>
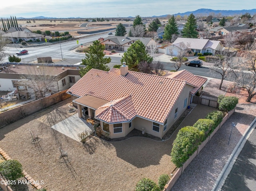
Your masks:
<instances>
[{"instance_id":1,"label":"smaller tile roof section at the central house's far right end","mask_svg":"<svg viewBox=\"0 0 256 191\"><path fill-rule=\"evenodd\" d=\"M181 70L174 73L167 73L165 75L168 78L172 79L180 79L186 81L187 84L193 86L194 88L190 91L192 95L196 94L196 92L206 83L207 79L204 77L196 76L189 71Z\"/></svg>"}]
</instances>

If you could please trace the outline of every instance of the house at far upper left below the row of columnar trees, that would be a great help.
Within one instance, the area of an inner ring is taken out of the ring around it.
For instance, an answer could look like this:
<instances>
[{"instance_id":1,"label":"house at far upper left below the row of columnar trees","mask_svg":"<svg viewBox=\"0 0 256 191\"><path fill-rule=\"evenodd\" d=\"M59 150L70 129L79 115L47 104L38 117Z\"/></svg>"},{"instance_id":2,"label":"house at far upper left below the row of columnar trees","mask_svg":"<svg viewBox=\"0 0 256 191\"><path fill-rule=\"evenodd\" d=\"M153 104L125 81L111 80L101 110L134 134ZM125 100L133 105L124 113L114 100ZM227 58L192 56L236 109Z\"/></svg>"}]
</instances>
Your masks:
<instances>
[{"instance_id":1,"label":"house at far upper left below the row of columnar trees","mask_svg":"<svg viewBox=\"0 0 256 191\"><path fill-rule=\"evenodd\" d=\"M36 41L37 39L39 39L40 41L42 41L42 39L44 40L44 35L42 34L25 32L25 31L16 31L11 33L6 33L2 36L7 37L13 42L17 42L19 41L19 39L22 39L22 41L29 41L29 40Z\"/></svg>"}]
</instances>

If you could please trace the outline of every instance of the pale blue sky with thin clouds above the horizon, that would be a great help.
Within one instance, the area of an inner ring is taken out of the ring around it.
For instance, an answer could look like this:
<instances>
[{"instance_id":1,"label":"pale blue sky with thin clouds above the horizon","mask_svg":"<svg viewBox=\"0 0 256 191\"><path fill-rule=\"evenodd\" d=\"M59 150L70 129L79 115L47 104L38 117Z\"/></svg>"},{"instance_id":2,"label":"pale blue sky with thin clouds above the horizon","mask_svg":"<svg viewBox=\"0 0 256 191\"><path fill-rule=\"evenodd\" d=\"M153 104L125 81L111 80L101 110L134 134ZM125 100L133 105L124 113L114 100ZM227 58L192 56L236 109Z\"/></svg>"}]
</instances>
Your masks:
<instances>
[{"instance_id":1,"label":"pale blue sky with thin clouds above the horizon","mask_svg":"<svg viewBox=\"0 0 256 191\"><path fill-rule=\"evenodd\" d=\"M0 17L150 17L184 13L200 8L250 10L255 8L252 5L255 5L255 0L4 0L0 6Z\"/></svg>"}]
</instances>

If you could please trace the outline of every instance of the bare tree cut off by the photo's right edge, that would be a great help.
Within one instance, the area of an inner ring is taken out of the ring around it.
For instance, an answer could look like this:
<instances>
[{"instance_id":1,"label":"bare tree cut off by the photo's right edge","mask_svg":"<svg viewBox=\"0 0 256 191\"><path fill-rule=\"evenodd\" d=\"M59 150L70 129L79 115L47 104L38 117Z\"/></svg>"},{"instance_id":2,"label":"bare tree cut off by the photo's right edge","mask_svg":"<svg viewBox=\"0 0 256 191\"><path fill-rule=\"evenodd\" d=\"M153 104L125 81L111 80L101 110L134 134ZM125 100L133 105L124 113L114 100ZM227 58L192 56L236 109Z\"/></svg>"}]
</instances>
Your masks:
<instances>
[{"instance_id":1,"label":"bare tree cut off by the photo's right edge","mask_svg":"<svg viewBox=\"0 0 256 191\"><path fill-rule=\"evenodd\" d=\"M248 92L246 102L256 95L256 43L248 43L239 53L241 67L239 70L238 86Z\"/></svg>"}]
</instances>

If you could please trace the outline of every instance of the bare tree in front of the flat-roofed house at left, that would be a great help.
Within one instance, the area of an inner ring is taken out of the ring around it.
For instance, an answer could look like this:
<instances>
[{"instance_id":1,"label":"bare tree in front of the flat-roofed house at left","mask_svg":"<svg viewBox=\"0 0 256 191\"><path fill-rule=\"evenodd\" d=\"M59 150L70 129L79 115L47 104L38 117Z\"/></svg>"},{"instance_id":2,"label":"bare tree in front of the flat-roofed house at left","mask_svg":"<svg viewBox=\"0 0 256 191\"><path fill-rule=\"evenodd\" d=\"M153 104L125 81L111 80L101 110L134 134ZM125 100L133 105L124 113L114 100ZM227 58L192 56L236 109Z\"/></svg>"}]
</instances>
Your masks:
<instances>
[{"instance_id":1,"label":"bare tree in front of the flat-roofed house at left","mask_svg":"<svg viewBox=\"0 0 256 191\"><path fill-rule=\"evenodd\" d=\"M51 67L44 65L27 67L27 71L30 75L24 75L24 78L30 81L29 86L33 89L36 99L59 91L58 80L60 78L52 73Z\"/></svg>"}]
</instances>

